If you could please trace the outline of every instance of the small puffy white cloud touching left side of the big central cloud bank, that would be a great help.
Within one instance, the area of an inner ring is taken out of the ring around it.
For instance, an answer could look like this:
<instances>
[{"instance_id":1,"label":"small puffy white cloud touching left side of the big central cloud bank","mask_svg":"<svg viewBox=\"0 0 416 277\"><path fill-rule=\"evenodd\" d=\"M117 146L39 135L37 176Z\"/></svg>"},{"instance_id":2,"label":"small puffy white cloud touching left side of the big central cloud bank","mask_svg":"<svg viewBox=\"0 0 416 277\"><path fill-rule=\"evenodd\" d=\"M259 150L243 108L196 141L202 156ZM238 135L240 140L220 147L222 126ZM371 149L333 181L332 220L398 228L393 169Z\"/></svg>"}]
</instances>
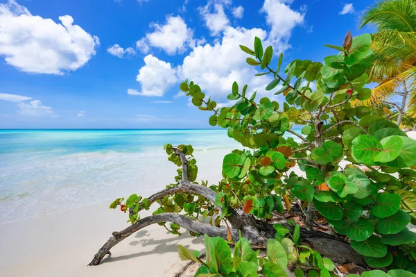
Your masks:
<instances>
[{"instance_id":1,"label":"small puffy white cloud touching left side of the big central cloud bank","mask_svg":"<svg viewBox=\"0 0 416 277\"><path fill-rule=\"evenodd\" d=\"M128 89L130 95L163 96L173 84L177 83L177 69L171 63L155 56L144 57L145 66L139 69L136 81L141 84L141 92Z\"/></svg>"}]
</instances>

